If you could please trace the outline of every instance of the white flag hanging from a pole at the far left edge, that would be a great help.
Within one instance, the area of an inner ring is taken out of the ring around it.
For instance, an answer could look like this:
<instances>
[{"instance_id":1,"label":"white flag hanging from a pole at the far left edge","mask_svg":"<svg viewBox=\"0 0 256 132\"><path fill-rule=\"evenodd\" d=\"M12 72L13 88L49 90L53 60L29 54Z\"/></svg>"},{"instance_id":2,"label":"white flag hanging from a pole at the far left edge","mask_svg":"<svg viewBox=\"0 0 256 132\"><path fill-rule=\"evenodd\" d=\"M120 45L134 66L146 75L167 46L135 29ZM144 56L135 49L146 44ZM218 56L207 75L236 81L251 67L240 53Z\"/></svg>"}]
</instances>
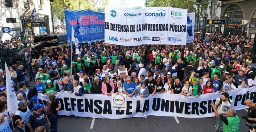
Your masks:
<instances>
[{"instance_id":1,"label":"white flag hanging from a pole at the far left edge","mask_svg":"<svg viewBox=\"0 0 256 132\"><path fill-rule=\"evenodd\" d=\"M12 84L12 79L8 70L8 66L5 62L6 69L6 89L7 89L7 110L11 113L16 113L18 109L18 100Z\"/></svg>"}]
</instances>

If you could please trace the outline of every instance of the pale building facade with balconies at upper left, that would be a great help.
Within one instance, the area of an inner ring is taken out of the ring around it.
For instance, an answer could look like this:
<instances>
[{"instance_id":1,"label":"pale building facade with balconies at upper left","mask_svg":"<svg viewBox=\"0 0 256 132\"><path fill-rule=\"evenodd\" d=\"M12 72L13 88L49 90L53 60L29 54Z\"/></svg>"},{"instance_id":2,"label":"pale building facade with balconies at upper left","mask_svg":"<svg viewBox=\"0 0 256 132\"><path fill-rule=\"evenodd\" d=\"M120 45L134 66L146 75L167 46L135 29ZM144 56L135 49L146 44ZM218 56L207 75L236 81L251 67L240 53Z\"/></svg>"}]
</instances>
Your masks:
<instances>
[{"instance_id":1,"label":"pale building facade with balconies at upper left","mask_svg":"<svg viewBox=\"0 0 256 132\"><path fill-rule=\"evenodd\" d=\"M52 31L51 6L49 0L0 0L0 40L5 41L17 38L22 31L20 16L28 18L32 9L36 8L38 21L44 21L44 15L48 15L50 31ZM45 27L26 27L28 35L46 32ZM5 29L10 29L6 32Z\"/></svg>"}]
</instances>

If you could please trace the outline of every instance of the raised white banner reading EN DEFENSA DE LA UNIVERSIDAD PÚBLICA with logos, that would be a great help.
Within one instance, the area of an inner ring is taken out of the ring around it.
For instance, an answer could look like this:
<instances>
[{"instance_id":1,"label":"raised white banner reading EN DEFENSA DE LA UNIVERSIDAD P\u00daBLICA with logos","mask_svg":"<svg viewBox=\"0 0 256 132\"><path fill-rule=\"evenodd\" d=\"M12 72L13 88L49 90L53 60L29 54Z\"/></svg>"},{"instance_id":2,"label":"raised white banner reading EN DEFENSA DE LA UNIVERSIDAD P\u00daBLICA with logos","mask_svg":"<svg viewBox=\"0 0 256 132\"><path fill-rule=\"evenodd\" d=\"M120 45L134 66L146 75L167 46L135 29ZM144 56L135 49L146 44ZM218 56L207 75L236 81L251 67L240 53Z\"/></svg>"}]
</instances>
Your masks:
<instances>
[{"instance_id":1,"label":"raised white banner reading EN DEFENSA DE LA UNIVERSIDAD P\u00daBLICA with logos","mask_svg":"<svg viewBox=\"0 0 256 132\"><path fill-rule=\"evenodd\" d=\"M105 6L105 42L123 46L186 45L187 9Z\"/></svg>"}]
</instances>

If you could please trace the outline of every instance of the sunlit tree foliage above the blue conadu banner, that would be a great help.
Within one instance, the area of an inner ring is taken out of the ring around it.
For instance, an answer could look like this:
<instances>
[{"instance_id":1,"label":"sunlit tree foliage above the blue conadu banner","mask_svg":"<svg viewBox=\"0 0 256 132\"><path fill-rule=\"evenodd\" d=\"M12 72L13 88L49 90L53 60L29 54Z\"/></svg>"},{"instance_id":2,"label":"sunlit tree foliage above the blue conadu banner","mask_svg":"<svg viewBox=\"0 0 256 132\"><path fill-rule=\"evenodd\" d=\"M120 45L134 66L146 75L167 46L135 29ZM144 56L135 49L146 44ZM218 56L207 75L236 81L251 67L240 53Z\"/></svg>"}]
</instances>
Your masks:
<instances>
[{"instance_id":1,"label":"sunlit tree foliage above the blue conadu banner","mask_svg":"<svg viewBox=\"0 0 256 132\"><path fill-rule=\"evenodd\" d=\"M105 10L105 5L108 5L109 0L80 0L80 10L91 9L94 11ZM100 3L101 7L98 6ZM53 14L54 17L64 22L65 14L64 8L70 10L79 10L79 0L54 0L53 2Z\"/></svg>"}]
</instances>

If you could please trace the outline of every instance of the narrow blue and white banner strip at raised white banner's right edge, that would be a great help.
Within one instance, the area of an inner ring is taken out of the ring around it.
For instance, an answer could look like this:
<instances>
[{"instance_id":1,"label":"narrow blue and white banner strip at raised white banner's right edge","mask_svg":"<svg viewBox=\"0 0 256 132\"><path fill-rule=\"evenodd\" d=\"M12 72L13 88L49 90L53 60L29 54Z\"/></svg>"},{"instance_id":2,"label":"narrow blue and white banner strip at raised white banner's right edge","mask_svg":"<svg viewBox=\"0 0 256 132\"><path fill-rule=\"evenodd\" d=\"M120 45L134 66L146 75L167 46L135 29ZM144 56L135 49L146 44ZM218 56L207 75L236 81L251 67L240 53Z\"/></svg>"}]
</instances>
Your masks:
<instances>
[{"instance_id":1,"label":"narrow blue and white banner strip at raised white banner's right edge","mask_svg":"<svg viewBox=\"0 0 256 132\"><path fill-rule=\"evenodd\" d=\"M194 31L195 31L195 13L188 13L187 19L187 43L192 43L194 41Z\"/></svg>"}]
</instances>

